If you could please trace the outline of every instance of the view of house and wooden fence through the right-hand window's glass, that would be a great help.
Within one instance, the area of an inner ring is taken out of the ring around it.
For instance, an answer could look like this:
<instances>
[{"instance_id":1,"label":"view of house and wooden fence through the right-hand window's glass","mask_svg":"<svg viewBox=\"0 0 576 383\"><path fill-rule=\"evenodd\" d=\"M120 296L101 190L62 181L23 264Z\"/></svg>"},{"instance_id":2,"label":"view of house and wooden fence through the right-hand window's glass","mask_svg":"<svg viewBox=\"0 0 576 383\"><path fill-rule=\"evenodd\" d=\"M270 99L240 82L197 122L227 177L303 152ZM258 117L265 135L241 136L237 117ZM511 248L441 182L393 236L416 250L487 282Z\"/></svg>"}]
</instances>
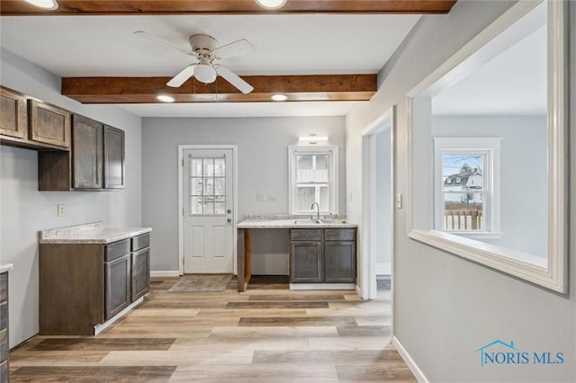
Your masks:
<instances>
[{"instance_id":1,"label":"view of house and wooden fence through the right-hand window's glass","mask_svg":"<svg viewBox=\"0 0 576 383\"><path fill-rule=\"evenodd\" d=\"M484 230L485 153L443 153L444 229Z\"/></svg>"}]
</instances>

